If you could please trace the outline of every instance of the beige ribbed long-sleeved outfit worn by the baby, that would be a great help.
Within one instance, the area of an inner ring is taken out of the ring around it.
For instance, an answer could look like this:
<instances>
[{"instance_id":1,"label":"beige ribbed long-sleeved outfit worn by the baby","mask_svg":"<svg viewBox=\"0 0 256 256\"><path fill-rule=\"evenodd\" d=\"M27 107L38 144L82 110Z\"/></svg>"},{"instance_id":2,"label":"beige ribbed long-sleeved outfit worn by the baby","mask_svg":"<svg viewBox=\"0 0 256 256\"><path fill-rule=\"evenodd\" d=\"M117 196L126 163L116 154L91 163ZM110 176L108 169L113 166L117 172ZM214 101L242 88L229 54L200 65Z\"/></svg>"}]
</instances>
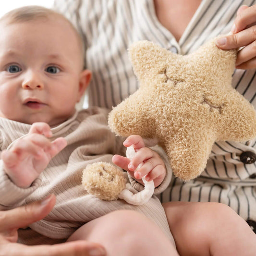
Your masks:
<instances>
[{"instance_id":1,"label":"beige ribbed long-sleeved outfit worn by the baby","mask_svg":"<svg viewBox=\"0 0 256 256\"><path fill-rule=\"evenodd\" d=\"M110 132L107 116L108 110L91 108L76 112L69 120L52 128L51 139L64 137L68 145L51 159L47 169L29 188L20 188L12 183L0 161L0 210L25 205L49 194L56 195L56 205L49 215L31 224L31 229L20 231L22 243L31 244L31 241L26 241L29 237L27 233L37 233L37 241L45 243L45 240L40 240L39 234L49 240L63 241L84 223L118 209L131 209L143 213L155 221L173 241L163 207L155 195L145 205L133 206L123 200L99 200L84 190L81 176L87 164L97 161L111 162L114 154L124 155L123 140ZM30 127L29 124L0 118L0 150L8 148L13 141L27 134ZM167 167L163 183L155 189L155 193L158 194L170 183L171 169L164 151L158 146L153 149L160 154ZM131 178L130 181L134 192L143 189L141 184Z\"/></svg>"}]
</instances>

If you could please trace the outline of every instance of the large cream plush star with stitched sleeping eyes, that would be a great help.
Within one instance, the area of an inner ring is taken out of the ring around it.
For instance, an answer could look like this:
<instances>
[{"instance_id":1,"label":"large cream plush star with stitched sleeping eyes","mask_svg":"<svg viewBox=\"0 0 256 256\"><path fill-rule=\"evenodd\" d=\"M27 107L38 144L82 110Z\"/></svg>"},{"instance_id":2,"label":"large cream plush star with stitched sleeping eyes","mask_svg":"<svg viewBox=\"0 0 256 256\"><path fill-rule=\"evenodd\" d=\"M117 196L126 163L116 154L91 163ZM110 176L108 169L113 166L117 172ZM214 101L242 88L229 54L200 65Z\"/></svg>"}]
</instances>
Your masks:
<instances>
[{"instance_id":1,"label":"large cream plush star with stitched sleeping eyes","mask_svg":"<svg viewBox=\"0 0 256 256\"><path fill-rule=\"evenodd\" d=\"M140 88L110 112L110 129L157 138L175 176L197 177L215 141L256 137L256 111L231 86L236 53L213 40L187 56L148 41L133 44Z\"/></svg>"}]
</instances>

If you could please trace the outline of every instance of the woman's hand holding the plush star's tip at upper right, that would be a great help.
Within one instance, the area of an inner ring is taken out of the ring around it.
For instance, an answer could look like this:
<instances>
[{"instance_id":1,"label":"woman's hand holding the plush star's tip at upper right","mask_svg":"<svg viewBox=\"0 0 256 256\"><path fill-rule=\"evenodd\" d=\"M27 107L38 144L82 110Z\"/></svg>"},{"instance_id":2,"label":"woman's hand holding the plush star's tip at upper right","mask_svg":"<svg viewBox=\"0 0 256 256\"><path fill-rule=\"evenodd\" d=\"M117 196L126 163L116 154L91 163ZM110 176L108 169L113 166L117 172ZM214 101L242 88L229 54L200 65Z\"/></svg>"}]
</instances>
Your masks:
<instances>
[{"instance_id":1,"label":"woman's hand holding the plush star's tip at upper right","mask_svg":"<svg viewBox=\"0 0 256 256\"><path fill-rule=\"evenodd\" d=\"M236 68L256 68L256 5L242 5L231 29L231 35L216 40L216 45L223 50L239 50Z\"/></svg>"}]
</instances>

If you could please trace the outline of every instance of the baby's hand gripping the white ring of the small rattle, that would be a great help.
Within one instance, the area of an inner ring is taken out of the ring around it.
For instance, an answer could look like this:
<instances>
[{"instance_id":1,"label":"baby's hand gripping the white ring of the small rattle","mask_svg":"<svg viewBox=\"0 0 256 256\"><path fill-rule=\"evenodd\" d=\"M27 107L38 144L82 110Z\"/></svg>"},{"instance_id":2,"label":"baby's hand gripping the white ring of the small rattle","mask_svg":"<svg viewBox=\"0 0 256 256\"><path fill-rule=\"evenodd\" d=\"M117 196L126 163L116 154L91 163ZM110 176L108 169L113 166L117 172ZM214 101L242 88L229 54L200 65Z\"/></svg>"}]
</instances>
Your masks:
<instances>
[{"instance_id":1,"label":"baby's hand gripping the white ring of the small rattle","mask_svg":"<svg viewBox=\"0 0 256 256\"><path fill-rule=\"evenodd\" d=\"M158 153L145 147L145 143L139 135L129 136L123 145L126 147L133 145L136 152L134 158L130 161L129 158L114 155L113 163L128 171L139 183L143 184L141 178L146 175L146 181L154 180L155 187L158 187L166 175L165 164ZM136 170L140 163L143 165L139 170Z\"/></svg>"}]
</instances>

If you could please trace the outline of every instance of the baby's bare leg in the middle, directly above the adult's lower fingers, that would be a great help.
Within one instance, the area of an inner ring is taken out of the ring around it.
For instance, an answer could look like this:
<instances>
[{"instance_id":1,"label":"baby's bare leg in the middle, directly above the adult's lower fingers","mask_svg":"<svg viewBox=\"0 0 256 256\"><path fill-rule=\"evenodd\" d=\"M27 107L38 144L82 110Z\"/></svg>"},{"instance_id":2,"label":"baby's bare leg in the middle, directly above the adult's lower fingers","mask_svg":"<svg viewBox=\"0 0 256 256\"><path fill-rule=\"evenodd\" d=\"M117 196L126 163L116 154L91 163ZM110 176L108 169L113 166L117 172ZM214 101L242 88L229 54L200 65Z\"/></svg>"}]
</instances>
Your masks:
<instances>
[{"instance_id":1,"label":"baby's bare leg in the middle, directly above the adult's lower fingers","mask_svg":"<svg viewBox=\"0 0 256 256\"><path fill-rule=\"evenodd\" d=\"M102 244L108 256L178 256L174 244L160 228L132 210L117 210L91 220L68 241L81 239Z\"/></svg>"}]
</instances>

